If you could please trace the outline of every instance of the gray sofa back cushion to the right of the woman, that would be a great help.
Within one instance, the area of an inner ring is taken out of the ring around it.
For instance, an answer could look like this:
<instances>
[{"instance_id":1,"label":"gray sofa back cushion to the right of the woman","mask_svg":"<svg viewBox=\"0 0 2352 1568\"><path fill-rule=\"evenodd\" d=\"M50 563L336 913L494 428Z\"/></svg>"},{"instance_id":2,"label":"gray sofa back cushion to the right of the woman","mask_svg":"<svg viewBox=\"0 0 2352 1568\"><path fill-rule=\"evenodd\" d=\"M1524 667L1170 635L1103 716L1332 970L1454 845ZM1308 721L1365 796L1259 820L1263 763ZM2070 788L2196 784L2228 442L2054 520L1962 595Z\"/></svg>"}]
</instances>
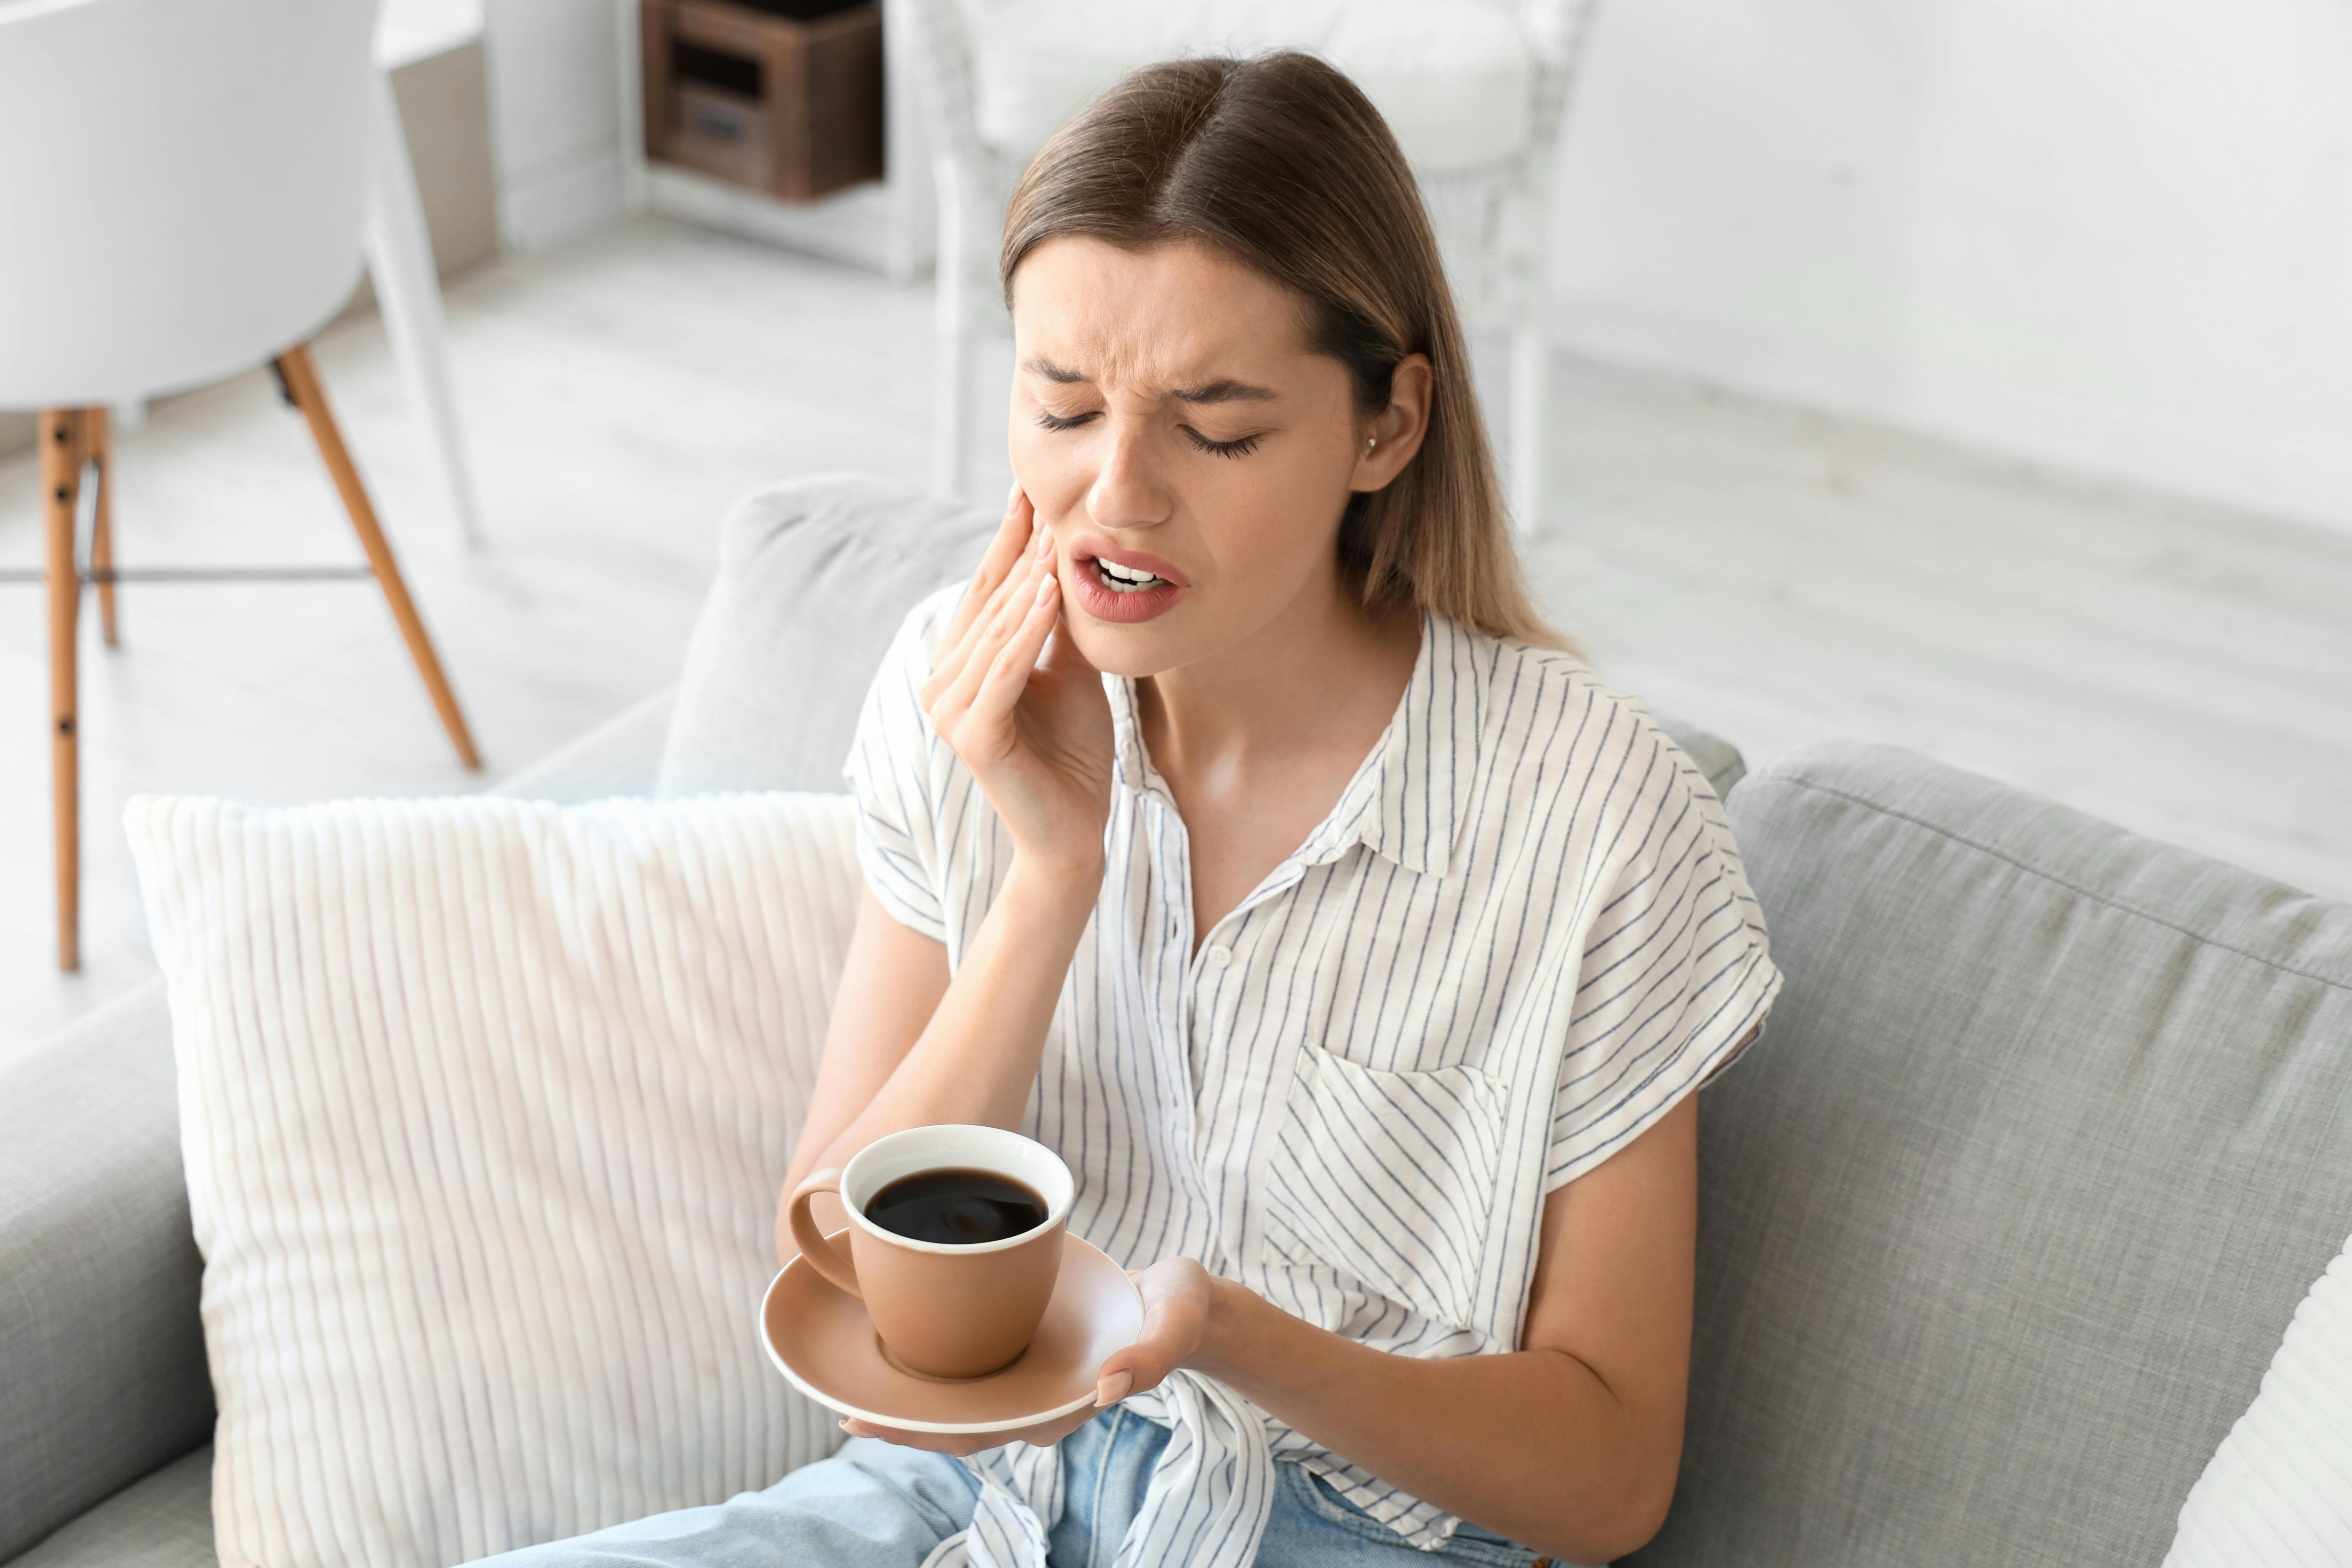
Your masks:
<instances>
[{"instance_id":1,"label":"gray sofa back cushion to the right of the woman","mask_svg":"<svg viewBox=\"0 0 2352 1568\"><path fill-rule=\"evenodd\" d=\"M1893 748L1729 809L1788 990L1700 1105L1628 1561L2161 1561L2352 1227L2352 905Z\"/></svg>"}]
</instances>

